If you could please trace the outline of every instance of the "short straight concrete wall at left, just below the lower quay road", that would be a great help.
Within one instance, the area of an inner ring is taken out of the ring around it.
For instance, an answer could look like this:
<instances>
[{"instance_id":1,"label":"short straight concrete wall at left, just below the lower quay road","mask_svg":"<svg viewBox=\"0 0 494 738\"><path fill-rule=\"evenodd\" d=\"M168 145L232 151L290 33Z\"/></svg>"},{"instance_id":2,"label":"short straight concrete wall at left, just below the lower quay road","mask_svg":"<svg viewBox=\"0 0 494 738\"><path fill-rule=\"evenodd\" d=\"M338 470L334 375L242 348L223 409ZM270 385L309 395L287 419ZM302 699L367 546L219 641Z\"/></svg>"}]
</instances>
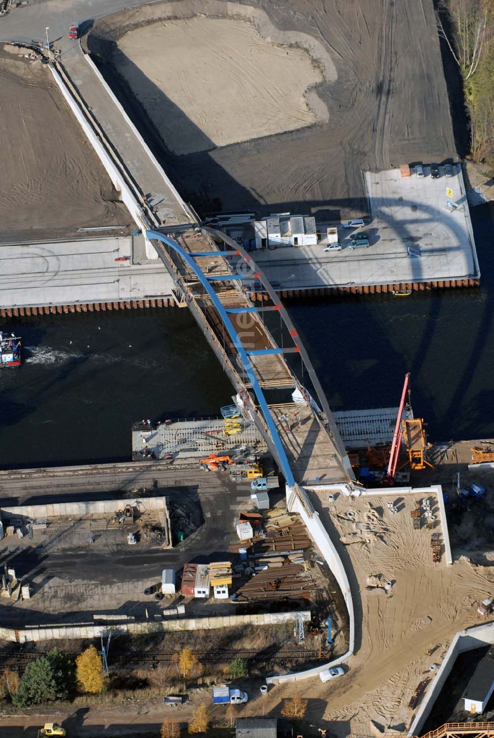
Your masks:
<instances>
[{"instance_id":1,"label":"short straight concrete wall at left, just below the lower quay road","mask_svg":"<svg viewBox=\"0 0 494 738\"><path fill-rule=\"evenodd\" d=\"M97 500L96 502L53 503L52 505L19 505L17 507L2 507L1 517L5 523L10 518L25 517L30 520L43 520L49 517L67 517L81 515L107 515L120 510L124 505L145 507L146 510L165 510L165 497L146 497L145 502L137 498L132 500Z\"/></svg>"}]
</instances>

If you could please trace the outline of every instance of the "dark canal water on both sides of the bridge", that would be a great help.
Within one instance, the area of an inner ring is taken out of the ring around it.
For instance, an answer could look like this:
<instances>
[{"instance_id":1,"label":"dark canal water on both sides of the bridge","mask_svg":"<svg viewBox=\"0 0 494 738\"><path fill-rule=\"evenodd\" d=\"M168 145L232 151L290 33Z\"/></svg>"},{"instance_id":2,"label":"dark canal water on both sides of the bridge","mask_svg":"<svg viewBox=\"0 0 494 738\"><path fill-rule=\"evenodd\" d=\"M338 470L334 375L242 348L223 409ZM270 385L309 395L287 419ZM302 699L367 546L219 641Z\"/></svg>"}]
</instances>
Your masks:
<instances>
[{"instance_id":1,"label":"dark canal water on both sides of the bridge","mask_svg":"<svg viewBox=\"0 0 494 738\"><path fill-rule=\"evenodd\" d=\"M494 207L472 211L481 288L288 303L333 410L397 405L433 441L494 437ZM4 320L24 345L0 370L0 468L126 461L131 423L217 415L233 393L185 309Z\"/></svg>"}]
</instances>

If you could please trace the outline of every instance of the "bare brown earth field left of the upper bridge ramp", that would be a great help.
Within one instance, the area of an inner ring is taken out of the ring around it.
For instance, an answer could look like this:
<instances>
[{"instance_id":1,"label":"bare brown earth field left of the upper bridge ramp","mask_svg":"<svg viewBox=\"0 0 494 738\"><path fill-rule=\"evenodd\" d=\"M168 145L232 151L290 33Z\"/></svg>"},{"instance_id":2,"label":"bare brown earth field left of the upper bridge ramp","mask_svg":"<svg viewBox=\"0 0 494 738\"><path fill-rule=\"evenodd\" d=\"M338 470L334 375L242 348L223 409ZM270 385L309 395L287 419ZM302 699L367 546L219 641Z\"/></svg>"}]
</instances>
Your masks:
<instances>
[{"instance_id":1,"label":"bare brown earth field left of the upper bridge ramp","mask_svg":"<svg viewBox=\"0 0 494 738\"><path fill-rule=\"evenodd\" d=\"M122 205L104 200L112 183L40 61L2 47L0 100L4 241L130 222Z\"/></svg>"}]
</instances>

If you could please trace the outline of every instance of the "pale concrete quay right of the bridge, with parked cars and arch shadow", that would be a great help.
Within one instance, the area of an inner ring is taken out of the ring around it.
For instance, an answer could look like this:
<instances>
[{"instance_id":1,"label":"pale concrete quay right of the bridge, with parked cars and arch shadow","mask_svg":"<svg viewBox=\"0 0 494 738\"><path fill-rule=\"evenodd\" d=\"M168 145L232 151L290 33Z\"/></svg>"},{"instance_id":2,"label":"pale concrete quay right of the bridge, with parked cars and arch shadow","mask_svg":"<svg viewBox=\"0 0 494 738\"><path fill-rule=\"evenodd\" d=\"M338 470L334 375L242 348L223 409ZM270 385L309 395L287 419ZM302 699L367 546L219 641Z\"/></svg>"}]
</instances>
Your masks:
<instances>
[{"instance_id":1,"label":"pale concrete quay right of the bridge, with parked cars and arch shadow","mask_svg":"<svg viewBox=\"0 0 494 738\"><path fill-rule=\"evenodd\" d=\"M338 227L341 251L325 252L323 241L256 251L255 262L282 296L476 286L480 269L459 165L454 172L446 177L440 167L439 179L431 178L429 167L423 178L401 177L398 169L366 172L366 224L328 224ZM446 209L447 200L453 209ZM350 249L350 236L359 232L367 234L370 246Z\"/></svg>"}]
</instances>

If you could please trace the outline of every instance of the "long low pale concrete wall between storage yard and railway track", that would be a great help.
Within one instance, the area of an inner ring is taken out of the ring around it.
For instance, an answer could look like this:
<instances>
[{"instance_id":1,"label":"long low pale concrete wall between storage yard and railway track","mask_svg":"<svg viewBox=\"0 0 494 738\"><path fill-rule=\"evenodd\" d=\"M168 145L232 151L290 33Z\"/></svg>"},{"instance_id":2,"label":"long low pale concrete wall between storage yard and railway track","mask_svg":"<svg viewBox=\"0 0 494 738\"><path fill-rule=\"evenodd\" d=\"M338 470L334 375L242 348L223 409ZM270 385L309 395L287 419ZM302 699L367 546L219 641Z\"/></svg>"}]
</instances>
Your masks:
<instances>
[{"instance_id":1,"label":"long low pale concrete wall between storage yard and railway track","mask_svg":"<svg viewBox=\"0 0 494 738\"><path fill-rule=\"evenodd\" d=\"M111 630L129 635L157 633L179 630L216 630L218 628L235 627L237 625L272 625L276 623L295 622L301 615L304 622L309 622L309 610L301 613L260 613L258 615L227 615L219 618L180 618L145 623L118 623L115 625L67 625L56 627L29 627L24 630L1 628L0 638L4 641L27 643L30 641L59 641L64 638L99 638Z\"/></svg>"}]
</instances>

